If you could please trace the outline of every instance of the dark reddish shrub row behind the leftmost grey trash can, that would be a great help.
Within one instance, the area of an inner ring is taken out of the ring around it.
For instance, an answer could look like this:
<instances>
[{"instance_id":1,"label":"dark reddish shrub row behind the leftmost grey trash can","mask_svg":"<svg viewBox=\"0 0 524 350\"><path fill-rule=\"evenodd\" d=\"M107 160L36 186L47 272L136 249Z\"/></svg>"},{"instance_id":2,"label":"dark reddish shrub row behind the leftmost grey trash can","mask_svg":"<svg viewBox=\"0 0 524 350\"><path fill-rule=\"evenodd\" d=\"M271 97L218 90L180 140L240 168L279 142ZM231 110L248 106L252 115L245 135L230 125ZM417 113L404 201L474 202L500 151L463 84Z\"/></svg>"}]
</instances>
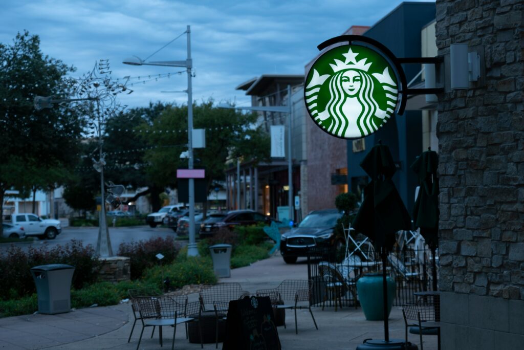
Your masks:
<instances>
[{"instance_id":1,"label":"dark reddish shrub row behind the leftmost grey trash can","mask_svg":"<svg viewBox=\"0 0 524 350\"><path fill-rule=\"evenodd\" d=\"M98 279L100 261L94 255L91 245L83 246L78 240L71 240L64 246L29 247L27 253L19 247L10 246L0 252L0 299L16 299L36 292L30 269L39 265L68 264L75 267L72 285L80 289Z\"/></svg>"}]
</instances>

